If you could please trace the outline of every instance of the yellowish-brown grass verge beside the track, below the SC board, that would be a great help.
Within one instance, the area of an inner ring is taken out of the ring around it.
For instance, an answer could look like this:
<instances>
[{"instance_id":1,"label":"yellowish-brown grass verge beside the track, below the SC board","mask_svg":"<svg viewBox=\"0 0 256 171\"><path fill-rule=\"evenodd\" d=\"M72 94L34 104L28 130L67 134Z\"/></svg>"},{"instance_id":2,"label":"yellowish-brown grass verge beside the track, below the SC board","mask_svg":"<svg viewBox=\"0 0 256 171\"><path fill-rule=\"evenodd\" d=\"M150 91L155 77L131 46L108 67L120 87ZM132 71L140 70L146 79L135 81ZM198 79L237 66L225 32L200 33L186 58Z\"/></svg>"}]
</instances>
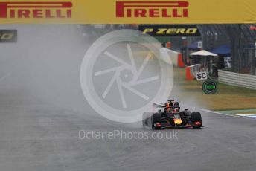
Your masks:
<instances>
[{"instance_id":1,"label":"yellowish-brown grass verge beside the track, below the SC board","mask_svg":"<svg viewBox=\"0 0 256 171\"><path fill-rule=\"evenodd\" d=\"M174 73L179 97L190 97L214 111L256 109L256 90L219 83L216 94L204 94L202 82L185 80L184 68L174 68Z\"/></svg>"}]
</instances>

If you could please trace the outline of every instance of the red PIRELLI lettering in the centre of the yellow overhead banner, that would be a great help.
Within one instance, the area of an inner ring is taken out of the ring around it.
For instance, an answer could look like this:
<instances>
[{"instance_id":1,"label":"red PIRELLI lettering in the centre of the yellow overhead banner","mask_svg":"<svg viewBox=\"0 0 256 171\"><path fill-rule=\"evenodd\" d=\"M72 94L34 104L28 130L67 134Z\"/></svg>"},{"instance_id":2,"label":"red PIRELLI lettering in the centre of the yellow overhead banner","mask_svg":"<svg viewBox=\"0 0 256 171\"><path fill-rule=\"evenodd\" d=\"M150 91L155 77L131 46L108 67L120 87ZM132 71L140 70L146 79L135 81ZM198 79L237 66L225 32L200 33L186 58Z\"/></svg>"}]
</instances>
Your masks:
<instances>
[{"instance_id":1,"label":"red PIRELLI lettering in the centre of the yellow overhead banner","mask_svg":"<svg viewBox=\"0 0 256 171\"><path fill-rule=\"evenodd\" d=\"M117 17L187 18L188 1L117 1Z\"/></svg>"}]
</instances>

